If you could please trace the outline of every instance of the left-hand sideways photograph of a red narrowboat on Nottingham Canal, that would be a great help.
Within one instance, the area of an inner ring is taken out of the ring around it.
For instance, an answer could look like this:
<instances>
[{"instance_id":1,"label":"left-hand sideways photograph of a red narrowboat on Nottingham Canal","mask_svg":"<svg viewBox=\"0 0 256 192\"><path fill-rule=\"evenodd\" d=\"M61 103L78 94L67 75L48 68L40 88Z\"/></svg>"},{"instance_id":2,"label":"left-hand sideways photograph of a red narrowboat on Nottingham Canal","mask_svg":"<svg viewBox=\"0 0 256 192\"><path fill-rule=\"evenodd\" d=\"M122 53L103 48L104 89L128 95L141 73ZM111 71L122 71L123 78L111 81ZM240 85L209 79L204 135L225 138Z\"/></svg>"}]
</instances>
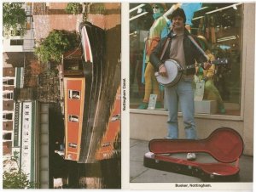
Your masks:
<instances>
[{"instance_id":1,"label":"left-hand sideways photograph of a red narrowboat on Nottingham Canal","mask_svg":"<svg viewBox=\"0 0 256 192\"><path fill-rule=\"evenodd\" d=\"M3 3L3 189L121 189L121 3Z\"/></svg>"}]
</instances>

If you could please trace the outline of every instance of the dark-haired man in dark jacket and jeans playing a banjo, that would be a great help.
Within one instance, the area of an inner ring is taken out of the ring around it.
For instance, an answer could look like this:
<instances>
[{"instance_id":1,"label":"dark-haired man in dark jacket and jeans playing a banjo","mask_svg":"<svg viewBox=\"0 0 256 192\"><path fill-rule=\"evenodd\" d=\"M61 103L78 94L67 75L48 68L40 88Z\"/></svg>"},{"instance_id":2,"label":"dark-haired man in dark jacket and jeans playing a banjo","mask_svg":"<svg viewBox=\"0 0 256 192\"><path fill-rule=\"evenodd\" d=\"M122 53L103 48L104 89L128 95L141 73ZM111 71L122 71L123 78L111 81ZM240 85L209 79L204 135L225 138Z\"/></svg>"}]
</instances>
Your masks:
<instances>
[{"instance_id":1,"label":"dark-haired man in dark jacket and jeans playing a banjo","mask_svg":"<svg viewBox=\"0 0 256 192\"><path fill-rule=\"evenodd\" d=\"M204 69L210 67L207 62L206 55L195 45L195 40L191 38L191 34L185 28L186 15L182 8L177 8L171 14L172 30L166 38L162 38L152 54L150 54L150 62L154 65L154 69L159 71L160 76L171 76L172 70L167 71L168 62L178 63L181 68L187 65L195 65L204 63ZM167 59L169 59L168 62ZM195 107L194 92L192 89L192 81L195 75L195 67L184 70L182 76L178 78L172 87L165 87L165 97L167 108L169 110L166 138L178 138L177 110L178 102L183 113L183 124L186 138L196 139L195 127ZM195 153L187 155L188 160L195 160Z\"/></svg>"}]
</instances>

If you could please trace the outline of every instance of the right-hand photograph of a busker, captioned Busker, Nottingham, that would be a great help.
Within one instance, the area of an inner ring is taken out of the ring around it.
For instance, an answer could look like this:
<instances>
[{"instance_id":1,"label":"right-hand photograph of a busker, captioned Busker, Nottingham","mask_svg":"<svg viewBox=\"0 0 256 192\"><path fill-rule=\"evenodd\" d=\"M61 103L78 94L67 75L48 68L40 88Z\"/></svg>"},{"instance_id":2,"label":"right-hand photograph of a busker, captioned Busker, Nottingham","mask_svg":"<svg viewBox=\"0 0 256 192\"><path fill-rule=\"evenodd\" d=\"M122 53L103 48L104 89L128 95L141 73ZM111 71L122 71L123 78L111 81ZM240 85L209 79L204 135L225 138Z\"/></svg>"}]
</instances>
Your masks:
<instances>
[{"instance_id":1,"label":"right-hand photograph of a busker, captioned Busker, Nottingham","mask_svg":"<svg viewBox=\"0 0 256 192\"><path fill-rule=\"evenodd\" d=\"M253 188L255 3L129 8L130 182Z\"/></svg>"}]
</instances>

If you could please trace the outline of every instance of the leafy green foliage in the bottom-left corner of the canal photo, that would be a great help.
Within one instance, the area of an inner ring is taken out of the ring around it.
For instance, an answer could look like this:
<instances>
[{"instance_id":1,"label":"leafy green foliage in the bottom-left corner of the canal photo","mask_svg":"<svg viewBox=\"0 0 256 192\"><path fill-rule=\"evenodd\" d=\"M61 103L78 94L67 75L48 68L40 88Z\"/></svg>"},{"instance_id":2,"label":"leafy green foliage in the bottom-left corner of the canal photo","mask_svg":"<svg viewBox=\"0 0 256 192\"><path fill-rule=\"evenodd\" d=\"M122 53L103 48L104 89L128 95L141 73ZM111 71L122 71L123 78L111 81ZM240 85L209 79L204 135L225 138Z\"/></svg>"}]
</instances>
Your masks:
<instances>
[{"instance_id":1,"label":"leafy green foliage in the bottom-left corner of the canal photo","mask_svg":"<svg viewBox=\"0 0 256 192\"><path fill-rule=\"evenodd\" d=\"M25 172L3 172L3 189L28 189L33 188Z\"/></svg>"}]
</instances>

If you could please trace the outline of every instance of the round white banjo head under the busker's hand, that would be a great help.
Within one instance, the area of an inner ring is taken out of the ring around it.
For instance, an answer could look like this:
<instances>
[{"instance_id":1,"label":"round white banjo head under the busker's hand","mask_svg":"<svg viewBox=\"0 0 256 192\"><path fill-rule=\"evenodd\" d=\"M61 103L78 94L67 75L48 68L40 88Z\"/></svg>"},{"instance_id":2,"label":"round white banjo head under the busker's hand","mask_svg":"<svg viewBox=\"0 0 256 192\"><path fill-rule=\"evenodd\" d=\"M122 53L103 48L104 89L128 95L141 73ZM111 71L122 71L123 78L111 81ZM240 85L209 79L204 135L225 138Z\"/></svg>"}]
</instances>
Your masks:
<instances>
[{"instance_id":1,"label":"round white banjo head under the busker's hand","mask_svg":"<svg viewBox=\"0 0 256 192\"><path fill-rule=\"evenodd\" d=\"M159 72L155 72L154 76L164 87L172 87L182 76L182 72L180 72L181 66L173 59L166 60L164 65L166 66L167 76L160 76Z\"/></svg>"}]
</instances>

